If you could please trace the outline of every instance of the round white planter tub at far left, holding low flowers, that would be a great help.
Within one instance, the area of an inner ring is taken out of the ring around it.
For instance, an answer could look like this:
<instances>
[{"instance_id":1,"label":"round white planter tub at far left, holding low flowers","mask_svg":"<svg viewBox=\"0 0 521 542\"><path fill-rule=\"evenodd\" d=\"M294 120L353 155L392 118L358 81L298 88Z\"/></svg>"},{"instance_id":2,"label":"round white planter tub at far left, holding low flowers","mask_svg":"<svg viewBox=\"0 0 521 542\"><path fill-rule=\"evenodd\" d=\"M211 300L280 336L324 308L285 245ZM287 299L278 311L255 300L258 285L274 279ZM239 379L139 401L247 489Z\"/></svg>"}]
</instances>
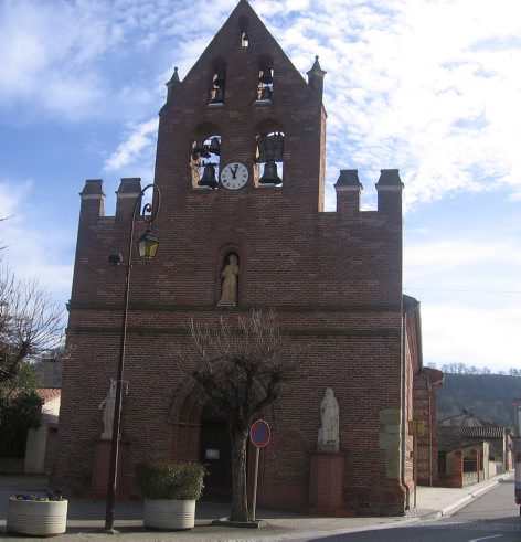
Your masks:
<instances>
[{"instance_id":1,"label":"round white planter tub at far left, holding low flowers","mask_svg":"<svg viewBox=\"0 0 521 542\"><path fill-rule=\"evenodd\" d=\"M67 500L35 501L9 498L7 531L35 536L63 534L67 528Z\"/></svg>"}]
</instances>

